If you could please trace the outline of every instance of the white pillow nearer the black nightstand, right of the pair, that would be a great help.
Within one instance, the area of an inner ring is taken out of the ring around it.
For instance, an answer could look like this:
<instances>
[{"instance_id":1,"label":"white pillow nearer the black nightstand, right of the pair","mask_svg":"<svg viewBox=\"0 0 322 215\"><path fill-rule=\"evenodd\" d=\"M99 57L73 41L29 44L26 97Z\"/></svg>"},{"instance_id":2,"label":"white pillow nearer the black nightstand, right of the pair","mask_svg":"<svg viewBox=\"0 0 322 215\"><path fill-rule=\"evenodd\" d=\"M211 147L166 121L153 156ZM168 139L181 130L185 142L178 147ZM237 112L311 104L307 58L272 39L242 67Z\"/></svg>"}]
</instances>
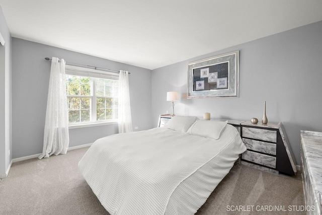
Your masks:
<instances>
[{"instance_id":1,"label":"white pillow nearer the black nightstand, right of the pair","mask_svg":"<svg viewBox=\"0 0 322 215\"><path fill-rule=\"evenodd\" d=\"M219 139L227 121L198 120L188 129L187 133L203 137Z\"/></svg>"}]
</instances>

